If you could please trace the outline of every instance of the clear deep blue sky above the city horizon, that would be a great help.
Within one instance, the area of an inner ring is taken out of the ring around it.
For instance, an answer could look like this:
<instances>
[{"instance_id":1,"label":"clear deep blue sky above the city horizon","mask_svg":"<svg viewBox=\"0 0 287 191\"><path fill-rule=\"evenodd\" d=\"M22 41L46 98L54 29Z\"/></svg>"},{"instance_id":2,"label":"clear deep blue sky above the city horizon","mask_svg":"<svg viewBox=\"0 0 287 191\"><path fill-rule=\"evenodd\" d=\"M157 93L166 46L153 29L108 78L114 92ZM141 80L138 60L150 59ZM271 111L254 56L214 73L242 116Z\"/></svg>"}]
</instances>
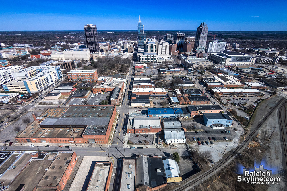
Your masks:
<instances>
[{"instance_id":1,"label":"clear deep blue sky above the city horizon","mask_svg":"<svg viewBox=\"0 0 287 191\"><path fill-rule=\"evenodd\" d=\"M287 31L286 0L266 1L2 1L0 30L145 30Z\"/></svg>"}]
</instances>

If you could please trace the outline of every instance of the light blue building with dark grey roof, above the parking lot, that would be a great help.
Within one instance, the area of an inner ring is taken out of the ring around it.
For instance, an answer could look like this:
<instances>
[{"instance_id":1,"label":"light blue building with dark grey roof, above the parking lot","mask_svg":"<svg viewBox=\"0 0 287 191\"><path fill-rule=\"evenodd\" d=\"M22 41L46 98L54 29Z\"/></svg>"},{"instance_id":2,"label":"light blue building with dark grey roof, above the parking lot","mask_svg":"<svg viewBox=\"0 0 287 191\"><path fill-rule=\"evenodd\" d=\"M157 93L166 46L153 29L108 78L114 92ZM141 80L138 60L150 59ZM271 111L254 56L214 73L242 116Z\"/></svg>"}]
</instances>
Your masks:
<instances>
[{"instance_id":1,"label":"light blue building with dark grey roof, above the parking lot","mask_svg":"<svg viewBox=\"0 0 287 191\"><path fill-rule=\"evenodd\" d=\"M232 125L232 119L226 113L204 113L204 125L209 127L214 124L222 124L224 127Z\"/></svg>"}]
</instances>

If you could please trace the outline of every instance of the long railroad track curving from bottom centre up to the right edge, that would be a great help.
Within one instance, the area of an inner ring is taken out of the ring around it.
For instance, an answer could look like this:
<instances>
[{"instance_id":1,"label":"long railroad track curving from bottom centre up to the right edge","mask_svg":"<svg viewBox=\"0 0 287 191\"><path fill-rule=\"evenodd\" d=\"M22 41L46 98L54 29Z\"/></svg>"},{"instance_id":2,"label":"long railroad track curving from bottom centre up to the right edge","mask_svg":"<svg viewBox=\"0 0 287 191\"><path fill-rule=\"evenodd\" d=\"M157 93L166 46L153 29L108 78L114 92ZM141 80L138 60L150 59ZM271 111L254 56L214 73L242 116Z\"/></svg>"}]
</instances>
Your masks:
<instances>
[{"instance_id":1,"label":"long railroad track curving from bottom centre up to the right edge","mask_svg":"<svg viewBox=\"0 0 287 191\"><path fill-rule=\"evenodd\" d=\"M202 182L203 180L205 180L206 178L210 178L211 176L213 176L218 170L220 170L222 167L224 167L226 164L228 164L228 162L230 162L233 157L235 157L237 155L237 153L239 153L241 151L241 149L243 149L243 147L245 145L248 145L249 141L251 141L251 139L253 138L254 134L258 131L258 129L265 123L265 121L268 119L268 117L275 111L275 109L277 109L281 104L283 103L283 105L287 105L287 99L282 98L280 99L280 101L269 111L269 113L267 113L266 117L264 117L264 119L262 119L262 121L258 124L257 127L254 128L254 130L252 132L249 133L249 135L247 136L247 138L245 139L245 141L243 141L241 143L241 145L239 145L238 147L236 147L236 149L230 153L230 155L228 155L224 160L220 161L216 166L214 166L213 168L211 168L210 170L208 170L207 172L205 172L203 175L201 175L200 177L195 178L194 180L191 180L189 183L183 185L181 188L177 188L174 191L183 191L183 190L187 190L187 189L191 189L193 186L195 186L196 184L199 184L200 182ZM286 115L286 113L285 113ZM286 119L286 118L285 118ZM285 148L286 149L286 148ZM286 150L285 150L286 151ZM287 160L287 158L286 158Z\"/></svg>"}]
</instances>

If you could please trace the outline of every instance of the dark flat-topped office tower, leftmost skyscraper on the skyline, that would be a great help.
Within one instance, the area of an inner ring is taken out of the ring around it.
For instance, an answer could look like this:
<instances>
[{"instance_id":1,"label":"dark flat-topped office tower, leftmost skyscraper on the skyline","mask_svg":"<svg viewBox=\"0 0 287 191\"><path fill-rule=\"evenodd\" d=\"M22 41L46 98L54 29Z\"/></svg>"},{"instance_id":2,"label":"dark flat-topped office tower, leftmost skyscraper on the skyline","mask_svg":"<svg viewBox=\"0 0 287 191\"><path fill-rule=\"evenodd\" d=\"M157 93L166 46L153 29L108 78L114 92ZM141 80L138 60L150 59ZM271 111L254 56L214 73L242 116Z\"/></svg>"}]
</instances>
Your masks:
<instances>
[{"instance_id":1,"label":"dark flat-topped office tower, leftmost skyscraper on the skyline","mask_svg":"<svg viewBox=\"0 0 287 191\"><path fill-rule=\"evenodd\" d=\"M99 47L99 38L96 25L87 24L85 25L84 29L85 29L87 46L90 49L90 53L98 51L100 47Z\"/></svg>"}]
</instances>

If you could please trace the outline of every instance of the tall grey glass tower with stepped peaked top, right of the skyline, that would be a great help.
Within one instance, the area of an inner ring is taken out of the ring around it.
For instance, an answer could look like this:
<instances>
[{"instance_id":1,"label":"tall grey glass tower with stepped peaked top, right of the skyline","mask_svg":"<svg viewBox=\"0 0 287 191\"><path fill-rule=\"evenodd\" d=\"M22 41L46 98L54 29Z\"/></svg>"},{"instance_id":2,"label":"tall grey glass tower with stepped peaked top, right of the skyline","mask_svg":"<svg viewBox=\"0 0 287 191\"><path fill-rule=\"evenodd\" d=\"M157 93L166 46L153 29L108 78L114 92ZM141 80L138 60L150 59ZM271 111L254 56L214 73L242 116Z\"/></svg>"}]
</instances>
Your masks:
<instances>
[{"instance_id":1,"label":"tall grey glass tower with stepped peaked top, right of the skyline","mask_svg":"<svg viewBox=\"0 0 287 191\"><path fill-rule=\"evenodd\" d=\"M201 23L196 30L195 45L194 48L197 52L205 52L205 46L207 41L208 26L205 23Z\"/></svg>"}]
</instances>

